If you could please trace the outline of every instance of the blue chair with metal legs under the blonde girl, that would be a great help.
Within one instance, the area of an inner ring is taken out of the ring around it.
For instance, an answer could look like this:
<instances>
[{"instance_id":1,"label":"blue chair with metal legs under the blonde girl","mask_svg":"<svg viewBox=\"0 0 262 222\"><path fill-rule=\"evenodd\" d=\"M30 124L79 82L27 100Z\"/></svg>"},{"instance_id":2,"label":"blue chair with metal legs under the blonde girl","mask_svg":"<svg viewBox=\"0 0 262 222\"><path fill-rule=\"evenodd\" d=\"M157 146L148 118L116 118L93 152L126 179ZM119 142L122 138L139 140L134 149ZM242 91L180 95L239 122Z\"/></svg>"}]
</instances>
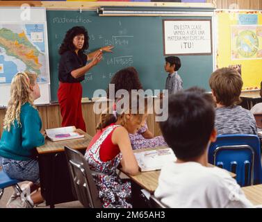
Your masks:
<instances>
[{"instance_id":1,"label":"blue chair with metal legs under the blonde girl","mask_svg":"<svg viewBox=\"0 0 262 222\"><path fill-rule=\"evenodd\" d=\"M3 196L3 191L6 187L13 187L15 193L22 194L22 189L19 187L18 182L22 182L20 180L11 179L7 176L7 174L3 171L0 171L0 200ZM33 205L28 200L25 200L26 203L33 208Z\"/></svg>"}]
</instances>

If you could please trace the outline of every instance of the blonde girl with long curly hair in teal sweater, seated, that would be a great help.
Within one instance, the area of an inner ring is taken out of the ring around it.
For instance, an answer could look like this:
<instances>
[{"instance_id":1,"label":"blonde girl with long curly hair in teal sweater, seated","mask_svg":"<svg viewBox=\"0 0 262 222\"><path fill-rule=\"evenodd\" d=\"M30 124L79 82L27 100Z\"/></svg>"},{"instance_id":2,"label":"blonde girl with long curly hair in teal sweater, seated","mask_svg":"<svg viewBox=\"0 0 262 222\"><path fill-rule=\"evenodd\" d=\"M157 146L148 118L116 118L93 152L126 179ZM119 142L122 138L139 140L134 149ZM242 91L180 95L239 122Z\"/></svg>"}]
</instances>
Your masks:
<instances>
[{"instance_id":1,"label":"blonde girl with long curly hair in teal sweater, seated","mask_svg":"<svg viewBox=\"0 0 262 222\"><path fill-rule=\"evenodd\" d=\"M40 97L36 80L36 74L19 72L14 76L0 141L0 164L3 170L10 178L31 181L31 191L40 186L35 147L44 144L44 136L40 133L42 121L33 105L33 101ZM32 196L27 195L26 199L31 205L42 202L39 191ZM13 195L8 207L28 205L21 197Z\"/></svg>"}]
</instances>

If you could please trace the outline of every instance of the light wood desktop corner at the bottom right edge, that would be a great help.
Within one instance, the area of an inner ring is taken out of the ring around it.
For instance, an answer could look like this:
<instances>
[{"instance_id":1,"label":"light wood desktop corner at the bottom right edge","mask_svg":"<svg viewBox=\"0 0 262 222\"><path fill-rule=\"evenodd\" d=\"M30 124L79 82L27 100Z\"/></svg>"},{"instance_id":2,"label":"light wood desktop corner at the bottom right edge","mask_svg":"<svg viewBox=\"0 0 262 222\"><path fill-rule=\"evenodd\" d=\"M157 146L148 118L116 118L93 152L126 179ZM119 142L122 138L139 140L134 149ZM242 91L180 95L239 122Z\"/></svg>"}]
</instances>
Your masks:
<instances>
[{"instance_id":1,"label":"light wood desktop corner at the bottom right edge","mask_svg":"<svg viewBox=\"0 0 262 222\"><path fill-rule=\"evenodd\" d=\"M262 205L262 185L242 187L247 199L254 205Z\"/></svg>"}]
</instances>

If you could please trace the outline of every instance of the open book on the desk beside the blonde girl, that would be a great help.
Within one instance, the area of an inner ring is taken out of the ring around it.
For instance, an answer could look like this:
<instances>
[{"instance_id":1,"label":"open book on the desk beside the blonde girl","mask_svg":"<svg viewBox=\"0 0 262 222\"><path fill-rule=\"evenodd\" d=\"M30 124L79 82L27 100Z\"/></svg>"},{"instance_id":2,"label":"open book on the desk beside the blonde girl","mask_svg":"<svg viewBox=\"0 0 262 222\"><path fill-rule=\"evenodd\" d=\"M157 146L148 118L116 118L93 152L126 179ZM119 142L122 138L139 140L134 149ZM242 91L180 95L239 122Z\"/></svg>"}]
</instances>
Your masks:
<instances>
[{"instance_id":1,"label":"open book on the desk beside the blonde girl","mask_svg":"<svg viewBox=\"0 0 262 222\"><path fill-rule=\"evenodd\" d=\"M76 131L75 126L67 126L61 128L53 128L47 129L45 132L47 133L47 137L51 139L51 141L60 141L66 139L79 139L85 137L85 135L81 135Z\"/></svg>"}]
</instances>

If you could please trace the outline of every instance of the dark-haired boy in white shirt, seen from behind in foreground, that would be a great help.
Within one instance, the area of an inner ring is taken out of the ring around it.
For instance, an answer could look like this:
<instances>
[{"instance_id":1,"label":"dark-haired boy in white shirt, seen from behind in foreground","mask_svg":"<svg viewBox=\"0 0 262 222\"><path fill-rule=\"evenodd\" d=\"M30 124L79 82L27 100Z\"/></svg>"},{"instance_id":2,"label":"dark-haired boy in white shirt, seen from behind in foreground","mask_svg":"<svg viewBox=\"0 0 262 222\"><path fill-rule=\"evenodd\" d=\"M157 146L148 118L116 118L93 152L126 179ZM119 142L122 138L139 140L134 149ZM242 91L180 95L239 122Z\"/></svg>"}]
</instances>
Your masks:
<instances>
[{"instance_id":1,"label":"dark-haired boy in white shirt, seen from behind in foreground","mask_svg":"<svg viewBox=\"0 0 262 222\"><path fill-rule=\"evenodd\" d=\"M208 146L215 142L215 110L206 94L171 95L163 137L177 157L161 170L154 193L168 207L252 207L229 173L208 167Z\"/></svg>"}]
</instances>

